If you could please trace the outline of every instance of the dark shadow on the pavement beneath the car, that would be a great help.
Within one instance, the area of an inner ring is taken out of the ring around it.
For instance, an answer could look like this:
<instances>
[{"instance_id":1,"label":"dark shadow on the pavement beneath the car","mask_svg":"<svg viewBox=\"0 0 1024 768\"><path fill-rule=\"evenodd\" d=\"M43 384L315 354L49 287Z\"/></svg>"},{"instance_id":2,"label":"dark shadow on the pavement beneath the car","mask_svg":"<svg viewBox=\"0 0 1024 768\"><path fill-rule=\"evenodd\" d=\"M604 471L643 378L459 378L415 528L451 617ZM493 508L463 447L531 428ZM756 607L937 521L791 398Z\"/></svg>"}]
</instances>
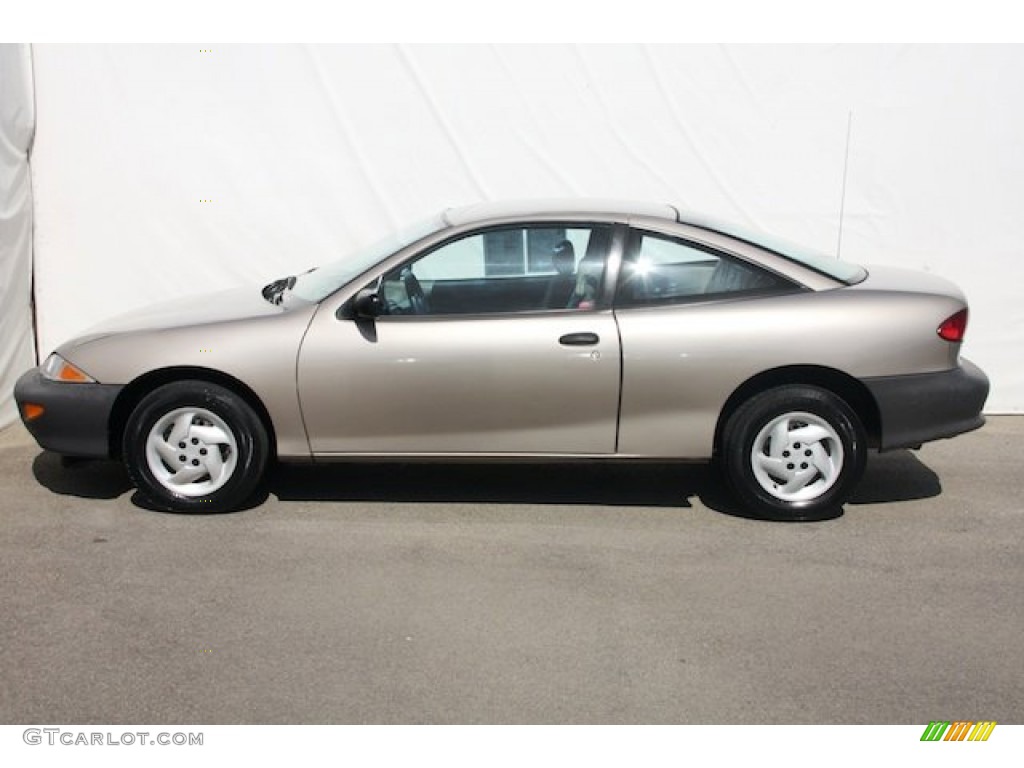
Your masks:
<instances>
[{"instance_id":1,"label":"dark shadow on the pavement beneath the car","mask_svg":"<svg viewBox=\"0 0 1024 768\"><path fill-rule=\"evenodd\" d=\"M132 489L123 465L65 459L41 452L36 480L54 494L116 499ZM938 476L910 451L873 454L851 505L928 499L942 493ZM754 518L736 507L717 472L703 464L589 462L570 464L322 463L272 467L262 489L243 509L268 495L287 501L550 504L689 508L697 497L709 508ZM154 509L140 494L132 502Z\"/></svg>"}]
</instances>

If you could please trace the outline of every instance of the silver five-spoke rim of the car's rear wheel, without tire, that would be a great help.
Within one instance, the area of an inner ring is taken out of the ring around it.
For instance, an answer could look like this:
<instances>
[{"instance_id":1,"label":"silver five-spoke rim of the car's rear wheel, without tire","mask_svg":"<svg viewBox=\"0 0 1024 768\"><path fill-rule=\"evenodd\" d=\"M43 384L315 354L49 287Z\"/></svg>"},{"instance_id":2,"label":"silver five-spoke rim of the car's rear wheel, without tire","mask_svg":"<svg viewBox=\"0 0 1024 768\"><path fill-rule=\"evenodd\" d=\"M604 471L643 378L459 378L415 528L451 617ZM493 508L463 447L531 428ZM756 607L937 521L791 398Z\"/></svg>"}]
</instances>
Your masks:
<instances>
[{"instance_id":1,"label":"silver five-spoke rim of the car's rear wheel, without tire","mask_svg":"<svg viewBox=\"0 0 1024 768\"><path fill-rule=\"evenodd\" d=\"M820 416L782 414L758 432L751 449L758 483L783 502L817 499L843 471L843 441Z\"/></svg>"}]
</instances>

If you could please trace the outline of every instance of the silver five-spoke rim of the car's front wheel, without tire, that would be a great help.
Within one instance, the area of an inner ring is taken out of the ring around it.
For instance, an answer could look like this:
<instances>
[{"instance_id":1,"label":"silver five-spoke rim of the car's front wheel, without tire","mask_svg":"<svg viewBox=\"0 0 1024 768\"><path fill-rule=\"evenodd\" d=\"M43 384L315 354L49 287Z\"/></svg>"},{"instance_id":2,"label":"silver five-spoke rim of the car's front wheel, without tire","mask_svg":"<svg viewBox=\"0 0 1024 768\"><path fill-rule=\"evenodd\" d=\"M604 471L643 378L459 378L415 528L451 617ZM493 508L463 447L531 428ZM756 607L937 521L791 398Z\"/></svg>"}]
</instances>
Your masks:
<instances>
[{"instance_id":1,"label":"silver five-spoke rim of the car's front wheel, without tire","mask_svg":"<svg viewBox=\"0 0 1024 768\"><path fill-rule=\"evenodd\" d=\"M153 425L145 460L157 481L173 494L201 497L223 487L239 459L234 433L203 408L179 408Z\"/></svg>"}]
</instances>

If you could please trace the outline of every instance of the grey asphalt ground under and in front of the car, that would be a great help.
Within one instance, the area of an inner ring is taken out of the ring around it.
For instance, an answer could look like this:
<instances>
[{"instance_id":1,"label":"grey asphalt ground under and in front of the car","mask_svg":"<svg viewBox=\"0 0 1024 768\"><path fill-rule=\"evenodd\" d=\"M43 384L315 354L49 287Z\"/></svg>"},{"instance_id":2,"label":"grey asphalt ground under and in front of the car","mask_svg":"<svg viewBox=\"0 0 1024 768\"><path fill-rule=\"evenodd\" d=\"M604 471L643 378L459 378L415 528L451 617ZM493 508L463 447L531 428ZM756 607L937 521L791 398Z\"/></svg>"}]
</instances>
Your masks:
<instances>
[{"instance_id":1,"label":"grey asphalt ground under and in front of the car","mask_svg":"<svg viewBox=\"0 0 1024 768\"><path fill-rule=\"evenodd\" d=\"M1024 418L842 517L697 467L335 466L137 506L0 434L0 722L1024 722Z\"/></svg>"}]
</instances>

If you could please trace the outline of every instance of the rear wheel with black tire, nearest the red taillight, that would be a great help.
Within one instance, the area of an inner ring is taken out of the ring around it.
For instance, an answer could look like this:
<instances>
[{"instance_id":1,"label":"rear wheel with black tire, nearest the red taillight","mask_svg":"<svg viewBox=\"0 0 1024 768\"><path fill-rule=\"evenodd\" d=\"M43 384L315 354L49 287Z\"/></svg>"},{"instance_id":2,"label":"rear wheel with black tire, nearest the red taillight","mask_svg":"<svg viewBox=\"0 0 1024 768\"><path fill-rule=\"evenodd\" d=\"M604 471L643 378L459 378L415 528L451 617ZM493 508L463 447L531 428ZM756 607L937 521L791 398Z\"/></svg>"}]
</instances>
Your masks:
<instances>
[{"instance_id":1,"label":"rear wheel with black tire, nearest the red taillight","mask_svg":"<svg viewBox=\"0 0 1024 768\"><path fill-rule=\"evenodd\" d=\"M772 520L842 514L864 473L867 438L845 400L813 386L781 386L737 408L720 464L736 501Z\"/></svg>"}]
</instances>

